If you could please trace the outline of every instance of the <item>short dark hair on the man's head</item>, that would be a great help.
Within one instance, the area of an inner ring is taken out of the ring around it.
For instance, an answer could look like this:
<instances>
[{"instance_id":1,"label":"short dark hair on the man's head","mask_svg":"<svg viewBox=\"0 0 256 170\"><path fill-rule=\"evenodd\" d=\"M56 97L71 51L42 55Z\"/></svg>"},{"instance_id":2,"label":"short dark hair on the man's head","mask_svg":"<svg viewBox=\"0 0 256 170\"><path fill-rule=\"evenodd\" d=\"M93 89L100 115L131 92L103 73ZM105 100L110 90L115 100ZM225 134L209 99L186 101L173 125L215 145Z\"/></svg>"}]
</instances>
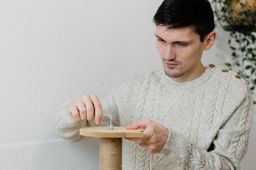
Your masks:
<instances>
[{"instance_id":1,"label":"short dark hair on the man's head","mask_svg":"<svg viewBox=\"0 0 256 170\"><path fill-rule=\"evenodd\" d=\"M214 30L214 14L207 0L164 0L153 21L168 29L191 27L200 35L200 41Z\"/></svg>"}]
</instances>

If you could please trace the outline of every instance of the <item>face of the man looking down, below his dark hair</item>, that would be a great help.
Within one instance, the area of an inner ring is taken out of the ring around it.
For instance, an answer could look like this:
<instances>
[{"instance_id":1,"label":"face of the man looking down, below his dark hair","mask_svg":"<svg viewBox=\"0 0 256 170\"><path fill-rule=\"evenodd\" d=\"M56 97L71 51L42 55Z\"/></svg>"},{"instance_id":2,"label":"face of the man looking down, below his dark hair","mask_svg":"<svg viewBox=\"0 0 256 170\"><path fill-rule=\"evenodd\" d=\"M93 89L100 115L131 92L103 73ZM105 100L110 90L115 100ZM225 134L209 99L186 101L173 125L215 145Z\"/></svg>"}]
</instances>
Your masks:
<instances>
[{"instance_id":1,"label":"face of the man looking down, below his dark hair","mask_svg":"<svg viewBox=\"0 0 256 170\"><path fill-rule=\"evenodd\" d=\"M157 26L155 36L167 76L175 81L191 81L204 73L201 57L205 42L193 29Z\"/></svg>"}]
</instances>

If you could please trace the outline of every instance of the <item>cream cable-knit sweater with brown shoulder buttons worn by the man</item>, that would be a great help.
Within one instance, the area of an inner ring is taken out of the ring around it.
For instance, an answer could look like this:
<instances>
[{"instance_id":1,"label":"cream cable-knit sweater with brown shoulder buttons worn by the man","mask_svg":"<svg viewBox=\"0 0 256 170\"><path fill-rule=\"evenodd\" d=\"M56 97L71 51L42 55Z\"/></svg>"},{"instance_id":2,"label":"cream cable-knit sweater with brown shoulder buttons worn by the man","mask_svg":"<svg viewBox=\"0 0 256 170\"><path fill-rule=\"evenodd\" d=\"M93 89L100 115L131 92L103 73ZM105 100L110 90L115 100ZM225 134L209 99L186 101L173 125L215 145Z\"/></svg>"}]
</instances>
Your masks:
<instances>
[{"instance_id":1,"label":"cream cable-knit sweater with brown shoulder buttons worn by the man","mask_svg":"<svg viewBox=\"0 0 256 170\"><path fill-rule=\"evenodd\" d=\"M95 125L76 120L63 104L56 132L70 142L81 138L81 127ZM233 71L210 64L196 80L177 82L163 70L125 81L100 99L103 113L114 125L151 119L169 129L160 153L152 157L154 169L239 169L248 147L253 100L246 81ZM102 119L101 125L107 125ZM150 154L123 140L123 169L149 169Z\"/></svg>"}]
</instances>

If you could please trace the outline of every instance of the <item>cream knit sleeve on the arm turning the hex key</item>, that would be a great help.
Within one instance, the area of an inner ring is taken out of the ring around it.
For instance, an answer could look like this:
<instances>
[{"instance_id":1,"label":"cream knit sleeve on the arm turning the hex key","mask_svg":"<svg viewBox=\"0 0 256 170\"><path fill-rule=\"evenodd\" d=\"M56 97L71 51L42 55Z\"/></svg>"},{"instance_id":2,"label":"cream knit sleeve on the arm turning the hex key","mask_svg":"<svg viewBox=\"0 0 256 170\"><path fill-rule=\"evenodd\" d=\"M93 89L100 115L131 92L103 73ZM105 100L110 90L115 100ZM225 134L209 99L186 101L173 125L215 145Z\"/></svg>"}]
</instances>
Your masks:
<instances>
[{"instance_id":1,"label":"cream knit sleeve on the arm turning the hex key","mask_svg":"<svg viewBox=\"0 0 256 170\"><path fill-rule=\"evenodd\" d=\"M108 96L103 97L102 99L99 98L102 106L102 113L111 115L113 125L120 126L120 117L124 116L122 115L121 110L127 105L126 103L127 100L129 100L129 93L132 92L132 94L136 94L136 89L141 86L145 76L147 76L147 74L141 74L140 76L130 78L120 85L112 87ZM87 120L77 122L68 111L69 104L74 100L70 100L62 104L60 110L58 111L55 120L55 130L58 136L66 139L69 142L76 142L81 138L88 139L88 137L84 137L79 134L79 129L82 127L109 125L108 117L102 117L100 125L96 125L94 119L91 122L88 122Z\"/></svg>"}]
</instances>

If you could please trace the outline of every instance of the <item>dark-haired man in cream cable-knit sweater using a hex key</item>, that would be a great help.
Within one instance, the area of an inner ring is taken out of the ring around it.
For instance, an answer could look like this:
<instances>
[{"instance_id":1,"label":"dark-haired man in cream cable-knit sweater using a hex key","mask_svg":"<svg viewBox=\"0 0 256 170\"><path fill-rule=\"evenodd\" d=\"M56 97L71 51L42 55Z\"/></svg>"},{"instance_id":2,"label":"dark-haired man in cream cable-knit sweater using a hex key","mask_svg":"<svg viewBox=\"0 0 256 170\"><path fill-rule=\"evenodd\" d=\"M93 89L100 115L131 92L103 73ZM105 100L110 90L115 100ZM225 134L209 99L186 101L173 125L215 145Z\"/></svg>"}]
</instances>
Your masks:
<instances>
[{"instance_id":1,"label":"dark-haired man in cream cable-knit sweater using a hex key","mask_svg":"<svg viewBox=\"0 0 256 170\"><path fill-rule=\"evenodd\" d=\"M154 169L239 169L248 146L252 95L233 71L201 62L216 39L211 4L165 0L154 22L164 71L131 78L101 100L84 95L68 101L56 131L78 141L84 138L81 127L106 123L103 112L116 126L145 128L143 138L124 140L123 169L149 169L149 153Z\"/></svg>"}]
</instances>

